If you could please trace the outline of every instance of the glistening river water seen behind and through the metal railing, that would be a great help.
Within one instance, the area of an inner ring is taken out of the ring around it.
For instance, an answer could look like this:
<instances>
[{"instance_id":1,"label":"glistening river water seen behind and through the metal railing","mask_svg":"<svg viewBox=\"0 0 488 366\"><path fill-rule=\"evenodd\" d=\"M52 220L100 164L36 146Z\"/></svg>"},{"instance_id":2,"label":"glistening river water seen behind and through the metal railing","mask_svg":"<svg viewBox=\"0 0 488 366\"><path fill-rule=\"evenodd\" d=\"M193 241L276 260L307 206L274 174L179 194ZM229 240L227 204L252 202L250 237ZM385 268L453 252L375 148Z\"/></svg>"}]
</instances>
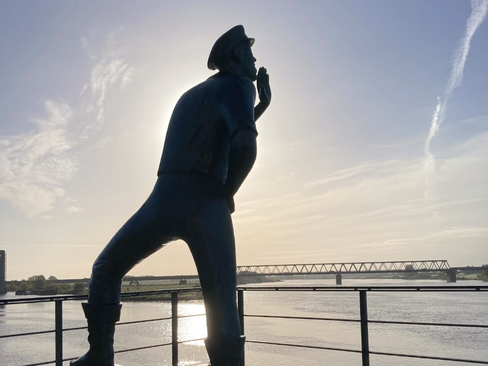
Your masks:
<instances>
[{"instance_id":1,"label":"glistening river water seen behind and through the metal railing","mask_svg":"<svg viewBox=\"0 0 488 366\"><path fill-rule=\"evenodd\" d=\"M463 281L458 285L482 285ZM287 280L260 284L280 286L332 286L335 280ZM350 280L343 285L405 286L447 285L442 281ZM254 285L252 285L254 286ZM10 296L5 295L5 296ZM0 296L0 299L2 297ZM5 297L3 297L5 298ZM488 324L488 292L368 292L369 320ZM358 292L245 291L244 313L359 319ZM202 314L203 302L181 302L180 315ZM121 322L168 317L167 302L126 302ZM63 327L85 326L80 302L63 303ZM54 304L6 305L0 308L0 335L54 329ZM294 319L245 318L247 340L361 349L359 323ZM87 349L86 330L63 333L63 357L75 357ZM180 320L179 339L206 336L204 316ZM369 324L371 351L419 354L488 361L488 328L426 325ZM127 349L171 342L171 322L156 321L120 325L115 348ZM0 339L0 365L20 366L54 360L54 333ZM207 359L203 341L181 344L180 365ZM246 343L247 366L274 365L361 365L361 354L287 346ZM123 366L171 365L171 346L116 354ZM67 365L68 363L65 363ZM371 355L376 366L444 366L467 363ZM470 364L473 365L473 364Z\"/></svg>"}]
</instances>

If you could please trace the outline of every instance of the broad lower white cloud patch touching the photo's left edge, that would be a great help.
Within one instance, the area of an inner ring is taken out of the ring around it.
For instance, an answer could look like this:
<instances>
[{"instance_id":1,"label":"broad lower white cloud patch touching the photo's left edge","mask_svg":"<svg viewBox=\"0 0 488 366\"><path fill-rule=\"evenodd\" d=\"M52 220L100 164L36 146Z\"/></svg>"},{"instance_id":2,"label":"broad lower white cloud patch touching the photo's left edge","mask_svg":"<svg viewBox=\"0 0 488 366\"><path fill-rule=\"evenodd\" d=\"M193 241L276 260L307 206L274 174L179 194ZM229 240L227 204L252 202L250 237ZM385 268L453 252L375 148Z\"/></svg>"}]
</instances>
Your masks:
<instances>
[{"instance_id":1,"label":"broad lower white cloud patch touching the photo's left edge","mask_svg":"<svg viewBox=\"0 0 488 366\"><path fill-rule=\"evenodd\" d=\"M2 136L0 143L0 198L28 216L53 208L77 166L77 156L69 153L75 144L68 132L71 108L45 101L44 110L34 130Z\"/></svg>"}]
</instances>

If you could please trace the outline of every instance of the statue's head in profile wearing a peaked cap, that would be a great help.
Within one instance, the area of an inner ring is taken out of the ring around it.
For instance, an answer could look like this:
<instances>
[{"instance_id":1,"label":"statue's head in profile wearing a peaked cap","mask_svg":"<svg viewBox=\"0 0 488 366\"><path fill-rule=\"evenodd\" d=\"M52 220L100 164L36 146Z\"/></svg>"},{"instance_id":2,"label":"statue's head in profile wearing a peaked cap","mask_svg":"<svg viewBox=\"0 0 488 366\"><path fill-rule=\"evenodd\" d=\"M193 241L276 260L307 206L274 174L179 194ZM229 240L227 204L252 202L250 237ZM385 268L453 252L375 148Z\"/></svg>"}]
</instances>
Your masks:
<instances>
[{"instance_id":1,"label":"statue's head in profile wearing a peaked cap","mask_svg":"<svg viewBox=\"0 0 488 366\"><path fill-rule=\"evenodd\" d=\"M253 43L254 38L245 35L242 25L232 27L214 43L208 56L208 68L237 72L256 81L256 59L251 51Z\"/></svg>"}]
</instances>

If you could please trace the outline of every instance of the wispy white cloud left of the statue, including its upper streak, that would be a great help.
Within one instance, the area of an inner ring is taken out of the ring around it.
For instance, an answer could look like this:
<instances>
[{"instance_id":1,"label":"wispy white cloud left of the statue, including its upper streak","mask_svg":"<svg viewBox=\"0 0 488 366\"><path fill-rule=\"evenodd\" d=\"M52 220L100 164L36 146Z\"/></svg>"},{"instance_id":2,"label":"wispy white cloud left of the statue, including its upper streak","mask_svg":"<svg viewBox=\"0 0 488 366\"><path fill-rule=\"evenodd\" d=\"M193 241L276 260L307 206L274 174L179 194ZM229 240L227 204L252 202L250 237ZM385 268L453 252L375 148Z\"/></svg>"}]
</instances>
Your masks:
<instances>
[{"instance_id":1,"label":"wispy white cloud left of the statue, including its upper streak","mask_svg":"<svg viewBox=\"0 0 488 366\"><path fill-rule=\"evenodd\" d=\"M0 136L0 199L26 216L53 209L65 196L64 183L73 178L84 152L110 141L109 136L95 136L104 120L106 95L115 85L129 82L133 73L128 61L113 49L113 38L108 37L108 50L102 51L102 57L87 39L81 39L81 47L95 64L78 101L69 105L48 99L44 117L32 121L31 131ZM87 92L94 106L83 108ZM66 211L80 212L81 208L72 205Z\"/></svg>"}]
</instances>

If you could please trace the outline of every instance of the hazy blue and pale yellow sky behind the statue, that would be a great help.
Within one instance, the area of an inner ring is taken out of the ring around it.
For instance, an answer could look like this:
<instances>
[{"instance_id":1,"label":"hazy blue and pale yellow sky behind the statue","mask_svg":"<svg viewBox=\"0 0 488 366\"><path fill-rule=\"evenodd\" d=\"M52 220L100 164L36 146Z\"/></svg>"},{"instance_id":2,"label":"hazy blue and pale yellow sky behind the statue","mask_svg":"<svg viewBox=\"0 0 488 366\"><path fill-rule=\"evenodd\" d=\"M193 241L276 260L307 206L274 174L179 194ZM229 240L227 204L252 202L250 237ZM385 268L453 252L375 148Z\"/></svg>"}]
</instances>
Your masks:
<instances>
[{"instance_id":1,"label":"hazy blue and pale yellow sky behind the statue","mask_svg":"<svg viewBox=\"0 0 488 366\"><path fill-rule=\"evenodd\" d=\"M488 263L488 0L0 0L7 280L89 277L156 181L226 30L272 101L235 197L238 265ZM195 274L177 241L131 275Z\"/></svg>"}]
</instances>

